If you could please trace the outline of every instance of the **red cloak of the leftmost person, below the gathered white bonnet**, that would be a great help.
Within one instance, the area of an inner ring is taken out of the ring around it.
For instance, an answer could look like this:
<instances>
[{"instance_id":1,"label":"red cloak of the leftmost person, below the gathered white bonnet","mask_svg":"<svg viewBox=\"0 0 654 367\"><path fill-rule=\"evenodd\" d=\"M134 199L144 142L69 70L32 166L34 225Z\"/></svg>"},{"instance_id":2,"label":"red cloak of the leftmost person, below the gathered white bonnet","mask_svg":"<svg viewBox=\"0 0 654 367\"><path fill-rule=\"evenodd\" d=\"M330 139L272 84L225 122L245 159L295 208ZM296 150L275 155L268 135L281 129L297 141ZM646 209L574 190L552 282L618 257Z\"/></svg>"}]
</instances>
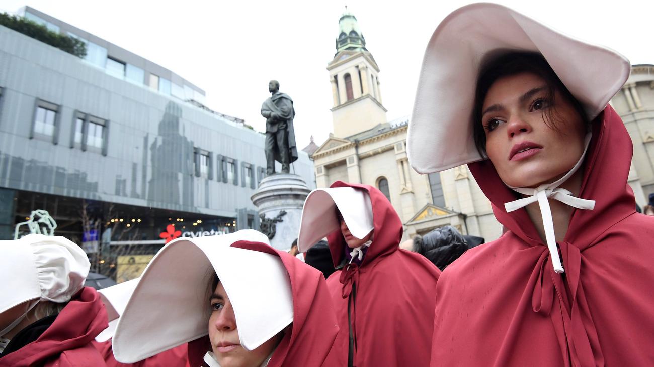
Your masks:
<instances>
[{"instance_id":1,"label":"red cloak of the leftmost person, below the gathered white bonnet","mask_svg":"<svg viewBox=\"0 0 654 367\"><path fill-rule=\"evenodd\" d=\"M0 367L105 366L92 345L109 325L100 296L84 287L57 315L54 323L35 342L0 359Z\"/></svg>"}]
</instances>

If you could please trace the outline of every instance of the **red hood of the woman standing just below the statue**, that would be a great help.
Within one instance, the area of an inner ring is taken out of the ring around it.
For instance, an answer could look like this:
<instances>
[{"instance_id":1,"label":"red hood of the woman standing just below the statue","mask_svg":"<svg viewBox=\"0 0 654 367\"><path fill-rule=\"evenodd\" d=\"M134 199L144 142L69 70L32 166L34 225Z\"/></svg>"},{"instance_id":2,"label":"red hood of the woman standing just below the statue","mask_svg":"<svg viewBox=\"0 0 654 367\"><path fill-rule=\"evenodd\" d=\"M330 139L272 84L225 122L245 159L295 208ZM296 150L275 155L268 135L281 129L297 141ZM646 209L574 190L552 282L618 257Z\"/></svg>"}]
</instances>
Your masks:
<instances>
[{"instance_id":1,"label":"red hood of the woman standing just below the statue","mask_svg":"<svg viewBox=\"0 0 654 367\"><path fill-rule=\"evenodd\" d=\"M390 253L398 249L404 231L402 221L381 191L370 185L358 185L342 181L336 181L330 187L353 187L354 189L365 190L370 195L375 234L373 234L372 244L366 252L363 263L361 263L362 267L375 261L375 259L390 255ZM338 266L345 255L345 246L347 246L345 238L343 238L343 234L339 230L328 234L327 240L334 266Z\"/></svg>"}]
</instances>

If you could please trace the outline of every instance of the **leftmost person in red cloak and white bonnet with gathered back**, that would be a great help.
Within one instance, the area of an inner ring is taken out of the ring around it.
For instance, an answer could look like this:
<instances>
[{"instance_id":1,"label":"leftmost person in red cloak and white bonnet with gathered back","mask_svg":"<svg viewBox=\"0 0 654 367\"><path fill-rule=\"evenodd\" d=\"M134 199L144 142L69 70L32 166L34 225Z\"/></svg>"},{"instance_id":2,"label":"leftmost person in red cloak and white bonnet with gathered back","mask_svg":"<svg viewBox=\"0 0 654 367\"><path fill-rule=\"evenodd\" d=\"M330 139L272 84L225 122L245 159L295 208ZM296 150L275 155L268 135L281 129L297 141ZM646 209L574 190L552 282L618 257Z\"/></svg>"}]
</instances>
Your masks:
<instances>
[{"instance_id":1,"label":"leftmost person in red cloak and white bonnet with gathered back","mask_svg":"<svg viewBox=\"0 0 654 367\"><path fill-rule=\"evenodd\" d=\"M0 366L104 366L92 341L107 328L86 253L60 236L0 241Z\"/></svg>"}]
</instances>

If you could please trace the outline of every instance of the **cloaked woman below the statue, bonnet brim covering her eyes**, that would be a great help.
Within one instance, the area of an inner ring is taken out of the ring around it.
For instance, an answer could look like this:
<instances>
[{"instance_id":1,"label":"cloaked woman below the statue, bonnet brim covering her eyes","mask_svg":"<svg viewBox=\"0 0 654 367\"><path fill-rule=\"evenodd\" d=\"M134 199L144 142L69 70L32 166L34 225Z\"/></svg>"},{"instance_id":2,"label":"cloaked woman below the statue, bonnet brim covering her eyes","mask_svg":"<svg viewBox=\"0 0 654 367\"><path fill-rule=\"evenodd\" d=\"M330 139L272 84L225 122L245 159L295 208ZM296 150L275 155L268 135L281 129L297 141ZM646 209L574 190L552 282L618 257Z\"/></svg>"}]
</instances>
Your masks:
<instances>
[{"instance_id":1,"label":"cloaked woman below the statue, bonnet brim covering her eyes","mask_svg":"<svg viewBox=\"0 0 654 367\"><path fill-rule=\"evenodd\" d=\"M298 248L327 236L341 328L327 366L428 366L440 270L400 249L402 221L369 185L334 182L304 203Z\"/></svg>"}]
</instances>

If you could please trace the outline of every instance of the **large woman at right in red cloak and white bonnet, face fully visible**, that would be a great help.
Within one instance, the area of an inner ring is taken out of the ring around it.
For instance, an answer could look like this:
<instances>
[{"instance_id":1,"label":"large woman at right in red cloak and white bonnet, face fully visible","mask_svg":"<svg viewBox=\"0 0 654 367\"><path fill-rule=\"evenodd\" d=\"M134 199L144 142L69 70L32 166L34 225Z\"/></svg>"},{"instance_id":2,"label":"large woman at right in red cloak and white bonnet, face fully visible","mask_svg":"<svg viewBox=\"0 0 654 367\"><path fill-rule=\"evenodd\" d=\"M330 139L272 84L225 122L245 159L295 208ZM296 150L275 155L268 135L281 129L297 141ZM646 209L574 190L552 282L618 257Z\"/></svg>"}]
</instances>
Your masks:
<instances>
[{"instance_id":1,"label":"large woman at right in red cloak and white bonnet, face fully visible","mask_svg":"<svg viewBox=\"0 0 654 367\"><path fill-rule=\"evenodd\" d=\"M432 366L654 365L654 220L635 211L632 142L607 105L629 71L500 5L438 26L409 161L468 163L505 231L439 279Z\"/></svg>"}]
</instances>

